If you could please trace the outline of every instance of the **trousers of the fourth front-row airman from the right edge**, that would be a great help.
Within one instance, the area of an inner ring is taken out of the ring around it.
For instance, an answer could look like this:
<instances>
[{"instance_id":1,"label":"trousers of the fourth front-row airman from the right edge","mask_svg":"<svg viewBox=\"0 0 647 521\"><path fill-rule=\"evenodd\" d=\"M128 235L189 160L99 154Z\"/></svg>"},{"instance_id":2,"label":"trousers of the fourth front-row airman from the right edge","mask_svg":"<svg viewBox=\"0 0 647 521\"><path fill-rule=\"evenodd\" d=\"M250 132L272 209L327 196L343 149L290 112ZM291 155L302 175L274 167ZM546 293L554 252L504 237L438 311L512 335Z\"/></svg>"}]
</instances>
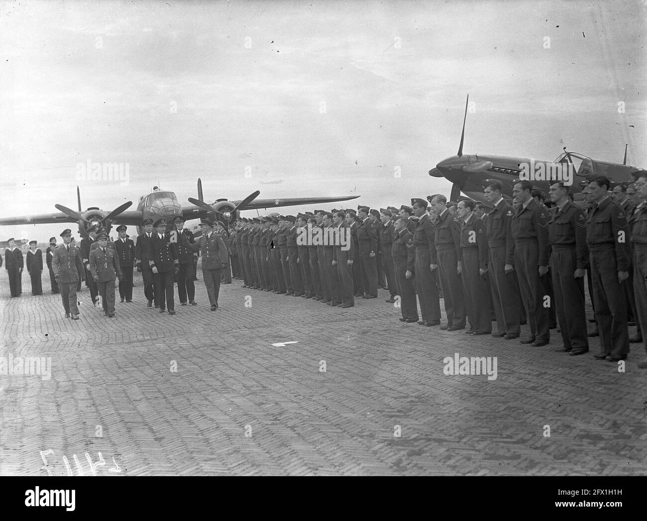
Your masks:
<instances>
[{"instance_id":1,"label":"trousers of the fourth front-row airman from the right edge","mask_svg":"<svg viewBox=\"0 0 647 521\"><path fill-rule=\"evenodd\" d=\"M539 244L536 241L515 245L514 269L531 338L548 342L551 338L550 316L548 308L543 306L544 302L550 305L554 305L554 302L546 298L545 283L539 276Z\"/></svg>"}]
</instances>

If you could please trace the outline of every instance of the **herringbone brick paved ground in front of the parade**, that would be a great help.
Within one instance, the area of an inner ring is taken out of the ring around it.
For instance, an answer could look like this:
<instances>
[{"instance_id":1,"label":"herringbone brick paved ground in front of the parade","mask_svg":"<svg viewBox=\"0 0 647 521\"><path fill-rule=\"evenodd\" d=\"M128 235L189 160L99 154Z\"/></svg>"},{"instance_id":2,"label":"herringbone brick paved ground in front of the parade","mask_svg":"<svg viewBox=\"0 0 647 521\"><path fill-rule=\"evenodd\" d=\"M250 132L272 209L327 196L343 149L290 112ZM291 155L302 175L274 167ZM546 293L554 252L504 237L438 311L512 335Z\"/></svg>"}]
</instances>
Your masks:
<instances>
[{"instance_id":1,"label":"herringbone brick paved ground in front of the parade","mask_svg":"<svg viewBox=\"0 0 647 521\"><path fill-rule=\"evenodd\" d=\"M342 310L234 280L212 313L200 281L199 306L169 316L145 307L136 283L112 320L84 286L72 322L47 274L48 294L30 296L25 274L10 299L0 273L0 355L52 359L49 380L0 375L1 474L45 476L48 449L54 475L63 456L79 473L73 454L90 474L85 452L102 452L96 472L115 476L647 472L636 344L619 373L590 353L554 353L555 331L532 348L402 324L386 291ZM282 341L298 343L272 346ZM444 375L456 352L498 357L498 378Z\"/></svg>"}]
</instances>

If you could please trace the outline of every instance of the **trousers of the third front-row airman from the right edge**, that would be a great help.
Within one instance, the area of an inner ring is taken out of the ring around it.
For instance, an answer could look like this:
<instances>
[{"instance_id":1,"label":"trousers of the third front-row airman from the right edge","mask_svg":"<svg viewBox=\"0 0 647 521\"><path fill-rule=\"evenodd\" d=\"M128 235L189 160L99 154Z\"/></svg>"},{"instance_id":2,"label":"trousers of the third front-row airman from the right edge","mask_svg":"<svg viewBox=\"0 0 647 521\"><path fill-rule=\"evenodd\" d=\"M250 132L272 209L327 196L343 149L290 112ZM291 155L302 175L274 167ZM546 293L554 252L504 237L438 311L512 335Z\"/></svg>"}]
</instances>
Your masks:
<instances>
[{"instance_id":1,"label":"trousers of the third front-row airman from the right edge","mask_svg":"<svg viewBox=\"0 0 647 521\"><path fill-rule=\"evenodd\" d=\"M577 252L575 248L556 249L551 253L551 276L557 318L565 349L588 349L584 308L584 277L575 278Z\"/></svg>"}]
</instances>

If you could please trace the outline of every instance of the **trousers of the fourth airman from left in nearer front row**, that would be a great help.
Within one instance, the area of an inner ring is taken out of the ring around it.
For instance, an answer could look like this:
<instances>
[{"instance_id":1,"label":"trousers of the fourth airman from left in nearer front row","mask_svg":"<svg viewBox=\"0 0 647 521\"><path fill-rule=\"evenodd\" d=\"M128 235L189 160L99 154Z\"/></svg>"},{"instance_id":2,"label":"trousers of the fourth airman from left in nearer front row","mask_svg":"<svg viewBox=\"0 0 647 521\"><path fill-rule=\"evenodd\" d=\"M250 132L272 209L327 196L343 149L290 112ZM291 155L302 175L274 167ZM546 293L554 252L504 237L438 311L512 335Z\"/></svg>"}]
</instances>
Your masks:
<instances>
[{"instance_id":1,"label":"trousers of the fourth airman from left in nearer front row","mask_svg":"<svg viewBox=\"0 0 647 521\"><path fill-rule=\"evenodd\" d=\"M490 293L485 275L481 275L478 248L463 248L463 287L470 301L468 316L470 329L479 333L492 333Z\"/></svg>"}]
</instances>

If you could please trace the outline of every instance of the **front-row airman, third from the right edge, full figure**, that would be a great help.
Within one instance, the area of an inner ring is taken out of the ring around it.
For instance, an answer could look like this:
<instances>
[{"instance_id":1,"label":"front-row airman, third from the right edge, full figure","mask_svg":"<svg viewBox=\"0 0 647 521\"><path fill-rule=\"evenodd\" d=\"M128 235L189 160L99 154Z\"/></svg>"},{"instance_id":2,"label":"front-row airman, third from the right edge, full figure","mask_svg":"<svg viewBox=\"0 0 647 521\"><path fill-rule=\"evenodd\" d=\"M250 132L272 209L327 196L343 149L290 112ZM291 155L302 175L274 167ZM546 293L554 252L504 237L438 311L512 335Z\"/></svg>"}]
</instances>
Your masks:
<instances>
[{"instance_id":1,"label":"front-row airman, third from the right edge, full figure","mask_svg":"<svg viewBox=\"0 0 647 521\"><path fill-rule=\"evenodd\" d=\"M589 351L584 304L584 275L589 267L586 216L569 200L570 187L551 185L551 202L557 212L549 224L551 276L555 307L564 346L555 351L582 355Z\"/></svg>"}]
</instances>

